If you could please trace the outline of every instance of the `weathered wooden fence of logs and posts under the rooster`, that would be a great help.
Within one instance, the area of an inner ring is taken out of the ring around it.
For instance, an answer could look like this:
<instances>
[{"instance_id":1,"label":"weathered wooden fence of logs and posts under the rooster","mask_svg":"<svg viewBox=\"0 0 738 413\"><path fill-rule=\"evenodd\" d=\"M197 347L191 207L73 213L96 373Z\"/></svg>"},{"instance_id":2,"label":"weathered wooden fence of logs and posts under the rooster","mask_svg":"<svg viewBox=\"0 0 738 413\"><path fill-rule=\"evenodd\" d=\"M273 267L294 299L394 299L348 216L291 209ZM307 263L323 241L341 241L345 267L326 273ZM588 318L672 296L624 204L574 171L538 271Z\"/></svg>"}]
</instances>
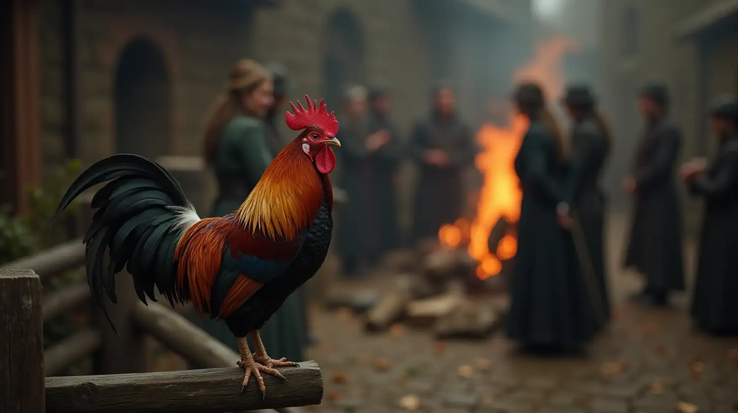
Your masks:
<instances>
[{"instance_id":1,"label":"weathered wooden fence of logs and posts under the rooster","mask_svg":"<svg viewBox=\"0 0 738 413\"><path fill-rule=\"evenodd\" d=\"M41 283L84 263L80 240L0 268L0 407L4 413L43 412L242 412L319 404L323 378L312 361L280 370L288 382L265 375L268 396L252 382L239 394L244 371L238 354L216 341L177 311L137 299L131 277L116 277L118 302L108 313L92 310L92 327L44 349L43 323L91 305L86 283L47 296ZM190 364L202 368L142 373L148 369L145 338L154 337ZM93 356L96 375L52 377L82 358Z\"/></svg>"}]
</instances>

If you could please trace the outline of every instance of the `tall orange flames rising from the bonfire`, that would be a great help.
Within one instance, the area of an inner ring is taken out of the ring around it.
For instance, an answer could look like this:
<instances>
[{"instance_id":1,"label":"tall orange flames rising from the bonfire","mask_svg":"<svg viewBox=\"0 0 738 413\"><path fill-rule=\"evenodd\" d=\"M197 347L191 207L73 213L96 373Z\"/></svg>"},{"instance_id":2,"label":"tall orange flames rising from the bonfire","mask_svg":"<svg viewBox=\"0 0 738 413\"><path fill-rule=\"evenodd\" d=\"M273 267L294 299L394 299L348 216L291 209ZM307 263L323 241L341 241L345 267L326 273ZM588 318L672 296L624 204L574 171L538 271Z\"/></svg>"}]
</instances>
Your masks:
<instances>
[{"instance_id":1,"label":"tall orange flames rising from the bonfire","mask_svg":"<svg viewBox=\"0 0 738 413\"><path fill-rule=\"evenodd\" d=\"M569 52L578 52L579 46L569 38L555 36L537 45L534 58L514 73L516 83L539 83L546 96L558 98L565 77L562 60ZM456 249L469 244L469 255L479 265L477 277L486 280L500 274L502 261L510 260L517 253L517 238L505 235L495 251L489 251L489 235L497 220L509 223L520 219L520 183L514 170L514 159L520 149L523 133L528 128L525 117L510 114L510 127L487 124L477 133L482 152L475 159L475 166L483 174L483 185L477 201L477 215L469 224L459 220L446 224L438 231L438 239L446 249ZM468 240L466 240L468 238Z\"/></svg>"}]
</instances>

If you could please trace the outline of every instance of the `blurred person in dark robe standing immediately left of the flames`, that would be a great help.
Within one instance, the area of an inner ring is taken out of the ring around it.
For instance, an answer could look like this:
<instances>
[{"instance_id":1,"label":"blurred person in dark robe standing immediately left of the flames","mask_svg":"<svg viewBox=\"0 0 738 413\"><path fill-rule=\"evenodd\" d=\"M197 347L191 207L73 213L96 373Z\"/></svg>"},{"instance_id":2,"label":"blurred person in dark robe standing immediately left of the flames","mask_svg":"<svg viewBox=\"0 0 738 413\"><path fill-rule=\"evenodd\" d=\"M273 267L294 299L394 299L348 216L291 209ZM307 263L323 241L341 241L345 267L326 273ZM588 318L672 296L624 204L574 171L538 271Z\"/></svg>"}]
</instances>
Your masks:
<instances>
[{"instance_id":1,"label":"blurred person in dark robe standing immediately left of the flames","mask_svg":"<svg viewBox=\"0 0 738 413\"><path fill-rule=\"evenodd\" d=\"M432 94L430 114L415 124L409 152L420 167L413 214L413 243L438 237L444 223L461 218L466 193L463 171L476 155L469 126L455 111L455 95L449 86Z\"/></svg>"}]
</instances>

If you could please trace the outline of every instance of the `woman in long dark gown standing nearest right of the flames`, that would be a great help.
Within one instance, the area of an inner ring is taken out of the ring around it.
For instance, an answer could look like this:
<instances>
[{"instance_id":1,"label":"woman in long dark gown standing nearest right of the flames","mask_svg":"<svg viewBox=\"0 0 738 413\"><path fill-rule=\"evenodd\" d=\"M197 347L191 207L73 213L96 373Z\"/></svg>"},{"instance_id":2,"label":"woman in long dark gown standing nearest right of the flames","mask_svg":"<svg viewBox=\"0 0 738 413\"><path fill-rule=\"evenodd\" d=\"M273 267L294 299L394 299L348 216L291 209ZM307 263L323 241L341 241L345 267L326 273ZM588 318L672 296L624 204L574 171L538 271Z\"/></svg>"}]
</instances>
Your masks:
<instances>
[{"instance_id":1,"label":"woman in long dark gown standing nearest right of the flames","mask_svg":"<svg viewBox=\"0 0 738 413\"><path fill-rule=\"evenodd\" d=\"M514 98L530 125L515 158L523 201L507 333L531 350L573 350L593 338L596 322L571 260L571 235L561 228L570 224L561 185L564 141L537 84L518 86Z\"/></svg>"}]
</instances>

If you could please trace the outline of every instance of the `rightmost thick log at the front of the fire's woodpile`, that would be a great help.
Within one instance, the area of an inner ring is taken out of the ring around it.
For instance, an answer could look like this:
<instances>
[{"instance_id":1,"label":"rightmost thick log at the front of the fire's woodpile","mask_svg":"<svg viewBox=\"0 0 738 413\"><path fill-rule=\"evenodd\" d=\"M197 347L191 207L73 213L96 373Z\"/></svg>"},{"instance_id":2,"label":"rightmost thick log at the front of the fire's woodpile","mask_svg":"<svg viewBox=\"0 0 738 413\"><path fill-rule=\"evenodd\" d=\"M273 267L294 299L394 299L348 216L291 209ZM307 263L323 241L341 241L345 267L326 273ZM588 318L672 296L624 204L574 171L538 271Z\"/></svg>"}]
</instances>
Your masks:
<instances>
[{"instance_id":1,"label":"rightmost thick log at the front of the fire's woodpile","mask_svg":"<svg viewBox=\"0 0 738 413\"><path fill-rule=\"evenodd\" d=\"M451 313L438 320L438 339L483 339L500 323L500 314L489 302L463 302Z\"/></svg>"}]
</instances>

